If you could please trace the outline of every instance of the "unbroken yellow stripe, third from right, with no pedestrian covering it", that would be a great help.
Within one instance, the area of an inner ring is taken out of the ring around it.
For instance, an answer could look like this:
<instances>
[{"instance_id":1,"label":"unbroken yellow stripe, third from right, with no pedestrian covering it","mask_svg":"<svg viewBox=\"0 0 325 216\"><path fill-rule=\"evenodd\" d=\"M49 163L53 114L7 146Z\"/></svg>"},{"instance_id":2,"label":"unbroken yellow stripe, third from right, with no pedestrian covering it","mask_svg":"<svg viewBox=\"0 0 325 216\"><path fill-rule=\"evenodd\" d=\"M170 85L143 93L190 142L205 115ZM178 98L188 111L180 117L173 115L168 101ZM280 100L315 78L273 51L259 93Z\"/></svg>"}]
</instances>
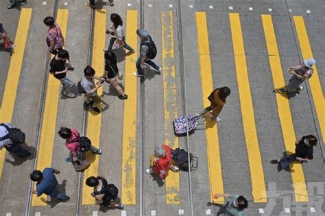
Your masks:
<instances>
[{"instance_id":1,"label":"unbroken yellow stripe, third from right, with no pedestrian covering it","mask_svg":"<svg viewBox=\"0 0 325 216\"><path fill-rule=\"evenodd\" d=\"M241 115L243 116L243 128L248 161L250 163L252 195L254 202L267 202L263 165L258 146L250 81L248 79L245 48L243 45L243 34L241 32L241 21L237 13L230 13L229 18L232 44L234 46L234 62L236 65L239 98L241 101Z\"/></svg>"}]
</instances>

